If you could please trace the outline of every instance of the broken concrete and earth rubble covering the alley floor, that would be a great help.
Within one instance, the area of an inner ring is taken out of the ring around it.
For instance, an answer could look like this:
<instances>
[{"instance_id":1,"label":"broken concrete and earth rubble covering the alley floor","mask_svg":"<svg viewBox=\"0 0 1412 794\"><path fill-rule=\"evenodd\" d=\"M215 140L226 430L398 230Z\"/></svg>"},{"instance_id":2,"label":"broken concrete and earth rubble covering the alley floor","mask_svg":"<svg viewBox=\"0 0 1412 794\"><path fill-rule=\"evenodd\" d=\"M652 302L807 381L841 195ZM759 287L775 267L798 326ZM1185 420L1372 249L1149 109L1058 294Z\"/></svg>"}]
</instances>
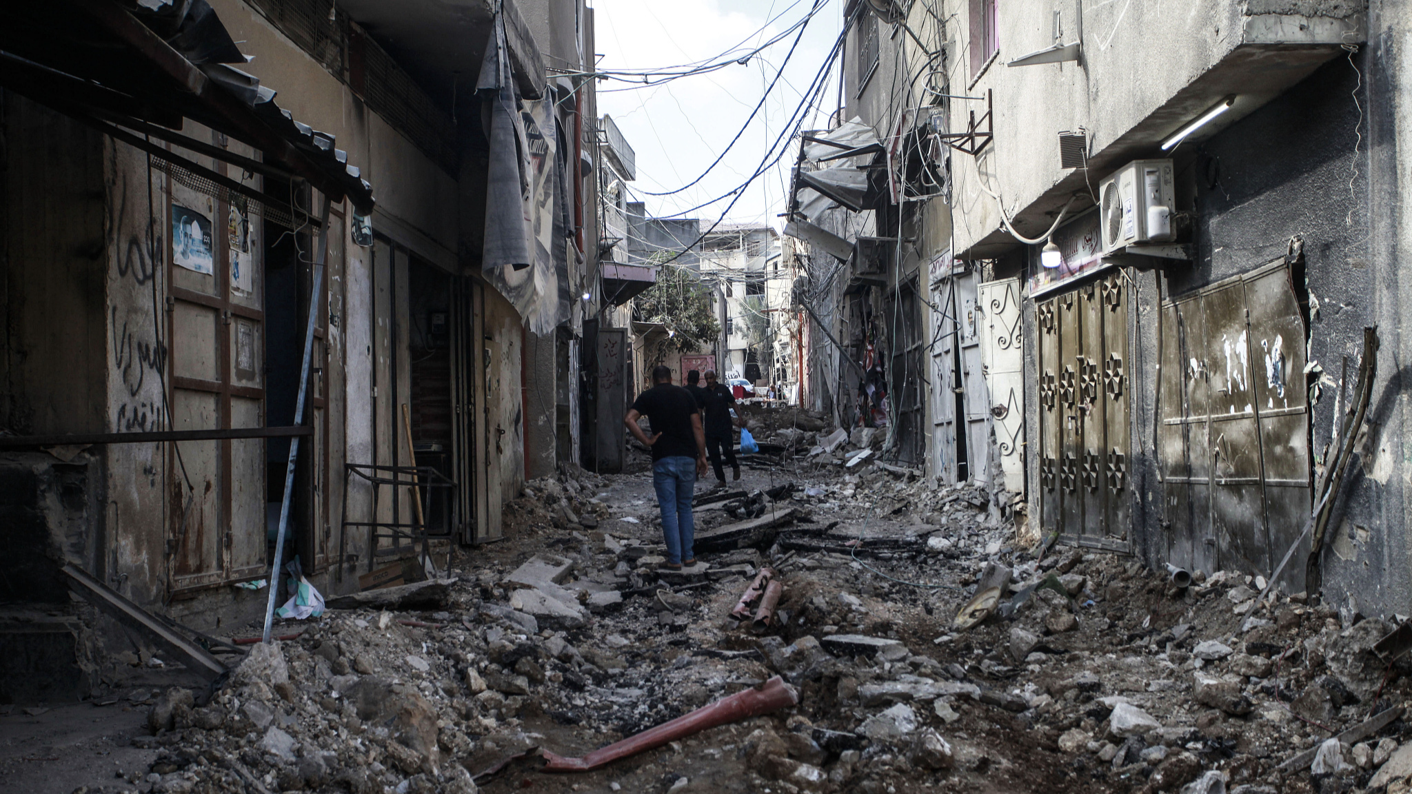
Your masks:
<instances>
[{"instance_id":1,"label":"broken concrete and earth rubble covering the alley floor","mask_svg":"<svg viewBox=\"0 0 1412 794\"><path fill-rule=\"evenodd\" d=\"M698 507L698 537L734 540L681 574L658 568L650 476L537 480L510 507L537 531L455 558L441 603L289 622L298 639L256 646L209 702L165 692L158 762L110 788L1412 790L1406 660L1374 651L1389 623L1258 603L1243 575L1180 588L1130 557L1017 548L974 486L771 476ZM541 771L535 749L589 753L774 675L798 705Z\"/></svg>"}]
</instances>

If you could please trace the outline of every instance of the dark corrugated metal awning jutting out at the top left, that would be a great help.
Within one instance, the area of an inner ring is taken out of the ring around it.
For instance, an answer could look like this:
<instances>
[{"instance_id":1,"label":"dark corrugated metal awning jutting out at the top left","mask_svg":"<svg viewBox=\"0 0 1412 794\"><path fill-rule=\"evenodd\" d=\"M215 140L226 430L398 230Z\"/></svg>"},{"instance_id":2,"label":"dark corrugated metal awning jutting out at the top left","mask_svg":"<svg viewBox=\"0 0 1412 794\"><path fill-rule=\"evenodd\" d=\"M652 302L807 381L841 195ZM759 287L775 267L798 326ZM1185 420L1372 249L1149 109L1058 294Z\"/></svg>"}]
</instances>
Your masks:
<instances>
[{"instance_id":1,"label":"dark corrugated metal awning jutting out at the top left","mask_svg":"<svg viewBox=\"0 0 1412 794\"><path fill-rule=\"evenodd\" d=\"M155 8L155 10L154 10ZM297 122L275 92L227 64L246 58L205 0L51 0L10 4L0 24L0 85L78 117L191 119L264 153L360 213L373 188L330 134Z\"/></svg>"}]
</instances>

